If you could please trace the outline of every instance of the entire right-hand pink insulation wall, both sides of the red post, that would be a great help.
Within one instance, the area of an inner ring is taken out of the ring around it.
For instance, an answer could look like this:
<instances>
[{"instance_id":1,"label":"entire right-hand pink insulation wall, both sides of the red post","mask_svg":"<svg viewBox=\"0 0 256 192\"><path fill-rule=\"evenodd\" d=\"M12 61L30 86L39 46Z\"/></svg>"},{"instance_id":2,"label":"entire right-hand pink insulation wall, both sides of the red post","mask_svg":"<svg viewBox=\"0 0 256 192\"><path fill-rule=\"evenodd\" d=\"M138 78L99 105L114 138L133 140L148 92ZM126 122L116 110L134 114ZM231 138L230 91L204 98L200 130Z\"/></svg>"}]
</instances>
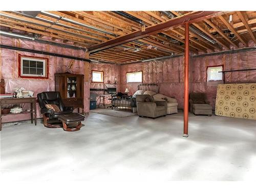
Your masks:
<instances>
[{"instance_id":1,"label":"entire right-hand pink insulation wall, both sides of the red post","mask_svg":"<svg viewBox=\"0 0 256 192\"><path fill-rule=\"evenodd\" d=\"M210 104L215 108L217 86L209 86L206 82L207 66L223 65L224 70L239 70L256 68L255 51L247 51L233 54L220 54L215 56L191 57L189 68L190 86L189 92L205 92ZM126 73L143 71L143 83L159 84L159 92L175 97L179 103L178 108L183 109L183 68L184 57L169 58L149 62L123 65L120 68L120 90L128 88L133 94L139 83L126 83ZM256 70L229 72L225 74L225 82L255 82Z\"/></svg>"}]
</instances>

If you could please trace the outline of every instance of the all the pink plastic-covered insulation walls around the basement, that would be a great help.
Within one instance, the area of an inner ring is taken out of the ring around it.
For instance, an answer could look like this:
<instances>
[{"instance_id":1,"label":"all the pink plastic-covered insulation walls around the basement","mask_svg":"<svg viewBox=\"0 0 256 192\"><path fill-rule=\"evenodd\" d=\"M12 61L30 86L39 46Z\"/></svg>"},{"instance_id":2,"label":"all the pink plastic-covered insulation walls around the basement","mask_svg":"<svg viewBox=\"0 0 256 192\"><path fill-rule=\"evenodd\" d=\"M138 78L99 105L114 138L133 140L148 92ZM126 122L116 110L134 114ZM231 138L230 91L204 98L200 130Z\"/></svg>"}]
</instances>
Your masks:
<instances>
[{"instance_id":1,"label":"all the pink plastic-covered insulation walls around the basement","mask_svg":"<svg viewBox=\"0 0 256 192\"><path fill-rule=\"evenodd\" d=\"M56 47L48 44L41 44L39 42L32 42L27 40L0 37L0 42L3 45L22 47L27 49L34 49L39 51L46 51L58 53L63 55L71 55L75 57L84 57L84 51L73 50L68 48ZM247 51L233 54L220 54L215 56L201 56L190 57L190 87L189 92L205 92L207 94L210 104L215 107L216 86L209 86L206 82L206 68L207 66L223 65L224 70L239 70L239 69L252 69L256 68L256 52ZM18 77L18 54L39 56L49 58L49 79L21 79ZM67 58L48 56L42 54L34 54L29 52L0 49L0 77L6 81L6 91L13 92L15 87L24 87L25 89L34 91L34 96L42 91L54 91L54 73L70 72L75 74L84 73L84 62L72 60ZM70 64L74 61L71 69ZM104 84L94 83L92 81L91 71L104 72ZM130 95L134 94L137 90L139 83L126 83L126 73L142 71L143 83L157 83L159 84L159 92L169 96L175 97L179 103L179 109L183 109L183 70L184 70L184 57L169 58L164 60L140 62L128 65L113 65L106 63L92 62L90 64L89 77L90 82L84 82L84 112L89 113L89 99L90 88L105 88L116 87L118 92L124 92L128 88ZM115 78L117 84L114 84ZM108 82L110 81L110 83ZM241 71L226 73L225 80L230 82L255 82L256 71ZM101 94L101 93L98 93ZM98 100L99 103L99 100ZM108 98L105 103L110 103ZM24 106L27 108L27 106ZM38 117L41 117L39 106L37 105ZM29 115L16 115L15 121L29 119ZM4 122L13 121L13 116L3 117Z\"/></svg>"}]
</instances>

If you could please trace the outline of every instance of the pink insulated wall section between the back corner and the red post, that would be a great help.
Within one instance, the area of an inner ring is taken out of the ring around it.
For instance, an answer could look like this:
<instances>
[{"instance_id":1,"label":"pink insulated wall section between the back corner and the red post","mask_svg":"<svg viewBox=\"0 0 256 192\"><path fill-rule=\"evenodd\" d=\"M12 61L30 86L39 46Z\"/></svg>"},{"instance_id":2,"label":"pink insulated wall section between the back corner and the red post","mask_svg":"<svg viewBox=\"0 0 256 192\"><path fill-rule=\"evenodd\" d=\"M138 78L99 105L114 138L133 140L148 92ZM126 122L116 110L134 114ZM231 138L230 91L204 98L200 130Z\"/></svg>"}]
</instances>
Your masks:
<instances>
[{"instance_id":1,"label":"pink insulated wall section between the back corner and the red post","mask_svg":"<svg viewBox=\"0 0 256 192\"><path fill-rule=\"evenodd\" d=\"M121 92L124 92L125 88L129 89L130 95L137 91L137 86L140 83L126 82L126 73L135 71L142 71L143 83L157 83L159 85L159 93L162 93L168 97L175 97L179 102L179 108L183 108L183 56L171 59L122 65L120 69Z\"/></svg>"}]
</instances>

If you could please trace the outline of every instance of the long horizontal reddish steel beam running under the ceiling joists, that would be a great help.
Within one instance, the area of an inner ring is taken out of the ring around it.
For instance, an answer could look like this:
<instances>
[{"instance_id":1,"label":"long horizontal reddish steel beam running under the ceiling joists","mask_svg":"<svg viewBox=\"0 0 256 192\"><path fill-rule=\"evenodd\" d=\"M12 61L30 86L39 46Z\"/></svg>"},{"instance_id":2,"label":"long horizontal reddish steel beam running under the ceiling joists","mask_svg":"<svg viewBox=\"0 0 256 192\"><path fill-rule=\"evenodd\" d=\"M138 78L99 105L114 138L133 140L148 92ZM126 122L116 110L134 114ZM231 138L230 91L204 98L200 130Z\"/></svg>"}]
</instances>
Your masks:
<instances>
[{"instance_id":1,"label":"long horizontal reddish steel beam running under the ceiling joists","mask_svg":"<svg viewBox=\"0 0 256 192\"><path fill-rule=\"evenodd\" d=\"M163 32L165 29L169 30L172 28L176 28L187 22L188 23L199 22L200 20L214 17L221 13L222 13L221 11L195 11L195 12L187 13L182 16L166 20L166 22L161 22L159 24L146 27L145 31L141 31L141 30L134 31L132 33L119 36L114 39L110 39L100 44L91 46L88 48L88 52L93 53L93 52L98 52L104 49L109 49L115 46L125 44L126 42L131 42L133 40L137 40L140 38L144 38L146 36Z\"/></svg>"}]
</instances>

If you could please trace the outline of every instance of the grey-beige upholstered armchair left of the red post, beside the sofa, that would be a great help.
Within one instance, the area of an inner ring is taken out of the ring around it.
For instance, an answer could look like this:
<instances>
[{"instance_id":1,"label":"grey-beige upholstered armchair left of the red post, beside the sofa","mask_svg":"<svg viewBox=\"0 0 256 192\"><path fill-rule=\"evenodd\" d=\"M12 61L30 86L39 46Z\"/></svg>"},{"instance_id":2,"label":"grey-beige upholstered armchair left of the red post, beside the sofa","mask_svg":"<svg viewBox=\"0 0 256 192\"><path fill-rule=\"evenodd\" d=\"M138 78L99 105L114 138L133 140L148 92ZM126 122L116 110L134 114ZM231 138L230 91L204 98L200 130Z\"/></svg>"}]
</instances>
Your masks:
<instances>
[{"instance_id":1,"label":"grey-beige upholstered armchair left of the red post, beside the sofa","mask_svg":"<svg viewBox=\"0 0 256 192\"><path fill-rule=\"evenodd\" d=\"M167 114L166 101L154 101L150 95L137 95L137 112L140 117L156 117L165 116Z\"/></svg>"}]
</instances>

